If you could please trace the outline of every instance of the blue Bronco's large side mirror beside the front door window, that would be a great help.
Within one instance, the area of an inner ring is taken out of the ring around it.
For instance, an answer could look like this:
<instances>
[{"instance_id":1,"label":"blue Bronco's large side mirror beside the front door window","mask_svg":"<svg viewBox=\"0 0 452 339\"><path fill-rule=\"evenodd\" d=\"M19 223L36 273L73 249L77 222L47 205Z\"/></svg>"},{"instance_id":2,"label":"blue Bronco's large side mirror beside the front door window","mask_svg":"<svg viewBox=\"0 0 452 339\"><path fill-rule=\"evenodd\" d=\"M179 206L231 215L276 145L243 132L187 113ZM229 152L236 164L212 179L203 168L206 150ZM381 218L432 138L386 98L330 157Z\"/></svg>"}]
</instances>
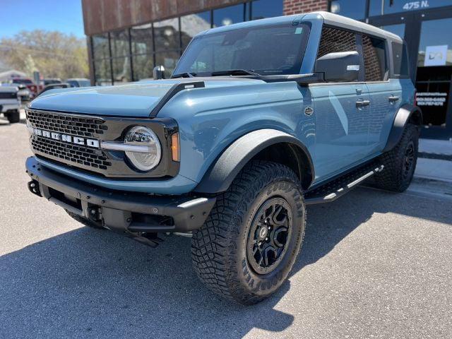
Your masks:
<instances>
[{"instance_id":1,"label":"blue Bronco's large side mirror beside the front door window","mask_svg":"<svg viewBox=\"0 0 452 339\"><path fill-rule=\"evenodd\" d=\"M358 52L328 53L316 61L316 73L323 73L325 81L357 81L360 58Z\"/></svg>"}]
</instances>

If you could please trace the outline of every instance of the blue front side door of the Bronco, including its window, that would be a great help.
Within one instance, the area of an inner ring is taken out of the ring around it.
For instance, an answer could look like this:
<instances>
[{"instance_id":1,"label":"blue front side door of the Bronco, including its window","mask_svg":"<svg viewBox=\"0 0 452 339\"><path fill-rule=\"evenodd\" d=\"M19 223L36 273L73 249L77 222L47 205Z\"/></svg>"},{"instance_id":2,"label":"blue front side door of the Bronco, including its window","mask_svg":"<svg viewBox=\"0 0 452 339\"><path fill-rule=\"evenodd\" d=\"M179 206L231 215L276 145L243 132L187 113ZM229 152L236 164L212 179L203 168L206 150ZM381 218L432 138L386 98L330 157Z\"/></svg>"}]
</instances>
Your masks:
<instances>
[{"instance_id":1,"label":"blue front side door of the Bronco, including its window","mask_svg":"<svg viewBox=\"0 0 452 339\"><path fill-rule=\"evenodd\" d=\"M359 52L355 32L323 28L318 58L351 51ZM322 181L368 157L370 98L364 82L319 83L309 88L315 102L316 179Z\"/></svg>"}]
</instances>

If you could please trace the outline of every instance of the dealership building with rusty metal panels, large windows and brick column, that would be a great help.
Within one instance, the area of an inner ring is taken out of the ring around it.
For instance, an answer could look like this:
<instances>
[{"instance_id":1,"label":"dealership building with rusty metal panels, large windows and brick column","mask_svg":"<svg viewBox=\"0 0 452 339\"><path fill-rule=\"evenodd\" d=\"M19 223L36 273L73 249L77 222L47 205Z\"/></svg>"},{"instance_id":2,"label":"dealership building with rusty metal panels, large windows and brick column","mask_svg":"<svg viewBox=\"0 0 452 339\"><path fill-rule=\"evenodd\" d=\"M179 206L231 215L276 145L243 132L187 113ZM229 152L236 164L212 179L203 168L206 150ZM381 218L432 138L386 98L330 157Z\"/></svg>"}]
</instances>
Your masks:
<instances>
[{"instance_id":1,"label":"dealership building with rusty metal panels, large windows and brick column","mask_svg":"<svg viewBox=\"0 0 452 339\"><path fill-rule=\"evenodd\" d=\"M83 0L90 78L111 85L170 75L191 37L222 25L331 11L408 44L424 138L452 138L452 0ZM270 49L271 47L269 47Z\"/></svg>"}]
</instances>

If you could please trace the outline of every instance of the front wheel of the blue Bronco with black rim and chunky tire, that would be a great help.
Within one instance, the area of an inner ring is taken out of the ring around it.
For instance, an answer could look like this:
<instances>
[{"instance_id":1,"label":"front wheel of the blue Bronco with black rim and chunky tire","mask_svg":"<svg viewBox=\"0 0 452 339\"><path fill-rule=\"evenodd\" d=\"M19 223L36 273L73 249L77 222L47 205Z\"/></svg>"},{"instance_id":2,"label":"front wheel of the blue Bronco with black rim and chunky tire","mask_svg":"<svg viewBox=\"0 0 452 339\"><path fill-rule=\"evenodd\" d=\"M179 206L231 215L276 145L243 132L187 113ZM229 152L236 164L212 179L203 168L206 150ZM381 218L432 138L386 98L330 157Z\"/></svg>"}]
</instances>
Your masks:
<instances>
[{"instance_id":1,"label":"front wheel of the blue Bronco with black rim and chunky tire","mask_svg":"<svg viewBox=\"0 0 452 339\"><path fill-rule=\"evenodd\" d=\"M304 236L297 176L275 162L246 165L220 196L191 254L198 277L218 295L255 304L283 285Z\"/></svg>"}]
</instances>

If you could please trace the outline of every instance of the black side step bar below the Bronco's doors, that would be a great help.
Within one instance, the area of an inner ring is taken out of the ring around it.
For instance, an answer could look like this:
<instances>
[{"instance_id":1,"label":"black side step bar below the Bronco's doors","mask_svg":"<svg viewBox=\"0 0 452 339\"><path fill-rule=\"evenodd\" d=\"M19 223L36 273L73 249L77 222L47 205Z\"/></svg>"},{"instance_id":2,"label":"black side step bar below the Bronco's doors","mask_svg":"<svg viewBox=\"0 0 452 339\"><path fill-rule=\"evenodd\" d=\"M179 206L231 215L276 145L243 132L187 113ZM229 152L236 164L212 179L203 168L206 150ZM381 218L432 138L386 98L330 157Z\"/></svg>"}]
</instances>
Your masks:
<instances>
[{"instance_id":1,"label":"black side step bar below the Bronco's doors","mask_svg":"<svg viewBox=\"0 0 452 339\"><path fill-rule=\"evenodd\" d=\"M308 191L304 196L306 205L314 205L315 203L331 203L340 196L348 193L358 184L364 182L377 172L381 172L383 165L367 166L362 169L357 169L355 172L346 174L343 177L328 182L312 191Z\"/></svg>"}]
</instances>

